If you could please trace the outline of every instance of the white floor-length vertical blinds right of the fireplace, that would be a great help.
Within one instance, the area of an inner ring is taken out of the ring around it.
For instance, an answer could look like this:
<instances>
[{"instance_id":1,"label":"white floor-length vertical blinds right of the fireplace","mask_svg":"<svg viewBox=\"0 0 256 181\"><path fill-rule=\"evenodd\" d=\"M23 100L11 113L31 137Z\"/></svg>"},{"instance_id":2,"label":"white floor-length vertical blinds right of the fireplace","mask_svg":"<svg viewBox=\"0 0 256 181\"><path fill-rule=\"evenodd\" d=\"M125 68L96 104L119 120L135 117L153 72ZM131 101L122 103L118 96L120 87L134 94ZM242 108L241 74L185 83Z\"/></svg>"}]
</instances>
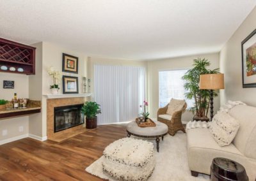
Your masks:
<instances>
[{"instance_id":1,"label":"white floor-length vertical blinds right of the fireplace","mask_svg":"<svg viewBox=\"0 0 256 181\"><path fill-rule=\"evenodd\" d=\"M102 113L98 124L125 122L138 117L145 98L145 68L94 66L95 101Z\"/></svg>"}]
</instances>

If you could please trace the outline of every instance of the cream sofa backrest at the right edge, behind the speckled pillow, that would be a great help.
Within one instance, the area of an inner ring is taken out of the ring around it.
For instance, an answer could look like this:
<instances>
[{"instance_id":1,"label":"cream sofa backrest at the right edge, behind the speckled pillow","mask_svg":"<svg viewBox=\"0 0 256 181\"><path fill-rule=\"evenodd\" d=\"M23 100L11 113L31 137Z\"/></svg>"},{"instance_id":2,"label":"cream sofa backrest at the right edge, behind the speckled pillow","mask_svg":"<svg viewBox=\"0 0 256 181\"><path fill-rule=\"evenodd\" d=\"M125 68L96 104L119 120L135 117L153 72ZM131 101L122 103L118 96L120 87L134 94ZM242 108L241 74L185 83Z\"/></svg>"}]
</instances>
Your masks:
<instances>
[{"instance_id":1,"label":"cream sofa backrest at the right edge, behind the speckled pillow","mask_svg":"<svg viewBox=\"0 0 256 181\"><path fill-rule=\"evenodd\" d=\"M245 156L256 159L256 107L237 105L228 113L240 124L234 145Z\"/></svg>"}]
</instances>

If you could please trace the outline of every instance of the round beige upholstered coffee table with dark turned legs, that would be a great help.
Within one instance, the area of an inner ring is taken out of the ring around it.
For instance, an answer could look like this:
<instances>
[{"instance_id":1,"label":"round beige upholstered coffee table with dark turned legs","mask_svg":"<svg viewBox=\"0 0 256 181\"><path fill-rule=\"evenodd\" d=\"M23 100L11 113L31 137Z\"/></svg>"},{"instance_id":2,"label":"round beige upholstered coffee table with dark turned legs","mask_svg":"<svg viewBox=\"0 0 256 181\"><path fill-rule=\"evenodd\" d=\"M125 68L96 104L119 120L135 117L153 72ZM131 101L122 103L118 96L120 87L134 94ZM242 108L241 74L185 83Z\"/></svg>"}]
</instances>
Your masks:
<instances>
[{"instance_id":1,"label":"round beige upholstered coffee table with dark turned legs","mask_svg":"<svg viewBox=\"0 0 256 181\"><path fill-rule=\"evenodd\" d=\"M159 121L154 122L156 123L156 127L139 127L135 120L130 122L126 127L127 136L156 138L156 148L157 152L159 152L159 138L162 137L162 141L164 140L164 136L168 133L168 126Z\"/></svg>"}]
</instances>

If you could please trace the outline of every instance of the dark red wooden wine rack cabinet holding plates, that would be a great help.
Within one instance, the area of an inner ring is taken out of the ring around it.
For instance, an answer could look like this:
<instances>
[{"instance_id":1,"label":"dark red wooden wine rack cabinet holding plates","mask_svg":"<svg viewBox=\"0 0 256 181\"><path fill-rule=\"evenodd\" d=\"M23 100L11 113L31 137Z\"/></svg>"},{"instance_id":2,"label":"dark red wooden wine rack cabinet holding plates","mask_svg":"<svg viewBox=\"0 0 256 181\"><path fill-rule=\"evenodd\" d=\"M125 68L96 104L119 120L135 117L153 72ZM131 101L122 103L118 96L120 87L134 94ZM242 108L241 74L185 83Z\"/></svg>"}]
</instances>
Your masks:
<instances>
[{"instance_id":1,"label":"dark red wooden wine rack cabinet holding plates","mask_svg":"<svg viewBox=\"0 0 256 181\"><path fill-rule=\"evenodd\" d=\"M0 71L35 75L35 50L35 47L0 38Z\"/></svg>"}]
</instances>

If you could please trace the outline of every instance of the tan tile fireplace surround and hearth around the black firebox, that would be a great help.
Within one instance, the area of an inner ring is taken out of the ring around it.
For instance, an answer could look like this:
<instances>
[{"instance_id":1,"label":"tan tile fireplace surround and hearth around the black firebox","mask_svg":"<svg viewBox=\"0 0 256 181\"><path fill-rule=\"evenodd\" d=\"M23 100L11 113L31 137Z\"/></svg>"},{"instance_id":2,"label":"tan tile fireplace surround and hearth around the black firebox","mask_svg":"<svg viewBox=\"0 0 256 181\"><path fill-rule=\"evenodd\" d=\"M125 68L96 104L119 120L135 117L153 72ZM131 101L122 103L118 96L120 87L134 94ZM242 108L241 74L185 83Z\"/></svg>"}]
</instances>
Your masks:
<instances>
[{"instance_id":1,"label":"tan tile fireplace surround and hearth around the black firebox","mask_svg":"<svg viewBox=\"0 0 256 181\"><path fill-rule=\"evenodd\" d=\"M83 104L85 98L47 99L47 138L52 141L63 141L86 131L85 125L70 127L54 133L54 107Z\"/></svg>"}]
</instances>

